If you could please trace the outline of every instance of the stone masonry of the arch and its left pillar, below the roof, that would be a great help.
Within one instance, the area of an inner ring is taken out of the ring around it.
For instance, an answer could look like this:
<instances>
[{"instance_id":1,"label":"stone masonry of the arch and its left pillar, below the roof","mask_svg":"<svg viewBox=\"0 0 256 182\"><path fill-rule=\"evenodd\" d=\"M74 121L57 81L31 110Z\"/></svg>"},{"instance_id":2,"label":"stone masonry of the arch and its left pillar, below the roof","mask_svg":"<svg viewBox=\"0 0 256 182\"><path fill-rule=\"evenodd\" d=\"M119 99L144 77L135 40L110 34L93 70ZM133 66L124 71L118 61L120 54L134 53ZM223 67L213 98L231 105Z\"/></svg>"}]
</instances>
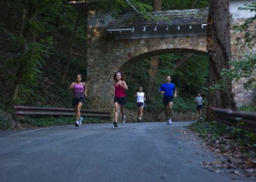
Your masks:
<instances>
[{"instance_id":1,"label":"stone masonry of the arch and its left pillar, below the roof","mask_svg":"<svg viewBox=\"0 0 256 182\"><path fill-rule=\"evenodd\" d=\"M122 65L181 49L206 53L205 36L114 40L106 28L90 28L88 33L87 85L91 104L98 109L111 109L113 75Z\"/></svg>"}]
</instances>

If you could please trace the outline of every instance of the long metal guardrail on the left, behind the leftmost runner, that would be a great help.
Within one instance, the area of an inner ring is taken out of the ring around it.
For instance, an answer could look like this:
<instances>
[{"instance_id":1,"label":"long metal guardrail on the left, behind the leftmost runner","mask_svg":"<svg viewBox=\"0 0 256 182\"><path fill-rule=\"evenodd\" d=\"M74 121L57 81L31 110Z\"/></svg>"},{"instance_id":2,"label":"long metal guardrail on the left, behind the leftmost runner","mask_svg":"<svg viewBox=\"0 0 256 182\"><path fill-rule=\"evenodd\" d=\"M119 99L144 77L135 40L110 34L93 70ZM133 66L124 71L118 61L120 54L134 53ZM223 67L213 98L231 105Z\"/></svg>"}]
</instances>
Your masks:
<instances>
[{"instance_id":1,"label":"long metal guardrail on the left, behind the leftmost runner","mask_svg":"<svg viewBox=\"0 0 256 182\"><path fill-rule=\"evenodd\" d=\"M25 115L75 115L74 109L59 107L31 107L14 106L14 113L19 116ZM81 115L85 117L110 118L110 112L97 110L81 110Z\"/></svg>"}]
</instances>

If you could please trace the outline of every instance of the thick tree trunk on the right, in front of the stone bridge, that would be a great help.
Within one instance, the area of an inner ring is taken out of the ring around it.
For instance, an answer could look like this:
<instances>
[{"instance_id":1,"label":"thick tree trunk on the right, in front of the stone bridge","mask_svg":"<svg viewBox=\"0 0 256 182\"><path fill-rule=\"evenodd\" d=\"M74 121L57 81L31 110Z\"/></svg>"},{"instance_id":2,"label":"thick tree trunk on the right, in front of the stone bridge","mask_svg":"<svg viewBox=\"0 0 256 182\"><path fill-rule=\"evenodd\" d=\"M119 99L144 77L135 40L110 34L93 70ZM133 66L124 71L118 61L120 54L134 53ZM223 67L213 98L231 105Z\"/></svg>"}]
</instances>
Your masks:
<instances>
[{"instance_id":1,"label":"thick tree trunk on the right, in front of the stone bridge","mask_svg":"<svg viewBox=\"0 0 256 182\"><path fill-rule=\"evenodd\" d=\"M208 86L218 84L223 77L222 69L230 69L230 14L229 1L210 0L207 21L207 51L209 53ZM213 120L210 106L236 109L234 95L231 90L231 80L225 81L223 90L209 91L207 97L207 121Z\"/></svg>"}]
</instances>

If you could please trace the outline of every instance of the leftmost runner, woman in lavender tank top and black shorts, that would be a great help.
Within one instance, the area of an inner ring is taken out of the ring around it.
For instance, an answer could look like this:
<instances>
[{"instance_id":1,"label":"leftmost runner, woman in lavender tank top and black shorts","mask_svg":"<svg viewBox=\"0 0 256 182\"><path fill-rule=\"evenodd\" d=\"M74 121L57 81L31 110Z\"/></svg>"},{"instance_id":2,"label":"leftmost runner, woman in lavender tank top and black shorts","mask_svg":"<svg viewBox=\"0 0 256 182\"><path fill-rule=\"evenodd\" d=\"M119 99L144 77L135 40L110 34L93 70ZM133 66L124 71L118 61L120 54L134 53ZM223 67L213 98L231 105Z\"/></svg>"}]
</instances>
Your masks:
<instances>
[{"instance_id":1,"label":"leftmost runner, woman in lavender tank top and black shorts","mask_svg":"<svg viewBox=\"0 0 256 182\"><path fill-rule=\"evenodd\" d=\"M77 120L75 121L75 126L78 127L82 125L83 118L81 117L81 108L85 103L84 96L87 97L87 87L84 82L81 82L82 75L77 74L77 81L72 82L69 87L69 90L73 90L73 107L75 114L77 115Z\"/></svg>"}]
</instances>

